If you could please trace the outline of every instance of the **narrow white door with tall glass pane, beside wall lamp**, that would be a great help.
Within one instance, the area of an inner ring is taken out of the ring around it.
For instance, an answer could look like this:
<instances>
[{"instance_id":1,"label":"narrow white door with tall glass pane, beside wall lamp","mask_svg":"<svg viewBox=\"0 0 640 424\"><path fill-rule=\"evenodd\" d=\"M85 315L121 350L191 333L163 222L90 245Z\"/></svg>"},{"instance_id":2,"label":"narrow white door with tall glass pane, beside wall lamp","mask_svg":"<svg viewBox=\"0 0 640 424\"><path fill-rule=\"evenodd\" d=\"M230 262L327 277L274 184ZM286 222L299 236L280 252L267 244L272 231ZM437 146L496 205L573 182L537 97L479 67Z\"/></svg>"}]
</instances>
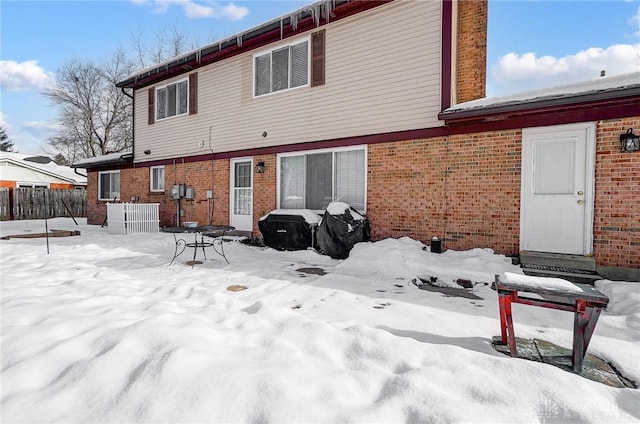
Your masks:
<instances>
[{"instance_id":1,"label":"narrow white door with tall glass pane, beside wall lamp","mask_svg":"<svg viewBox=\"0 0 640 424\"><path fill-rule=\"evenodd\" d=\"M231 160L231 225L236 230L253 230L253 163L251 159Z\"/></svg>"}]
</instances>

